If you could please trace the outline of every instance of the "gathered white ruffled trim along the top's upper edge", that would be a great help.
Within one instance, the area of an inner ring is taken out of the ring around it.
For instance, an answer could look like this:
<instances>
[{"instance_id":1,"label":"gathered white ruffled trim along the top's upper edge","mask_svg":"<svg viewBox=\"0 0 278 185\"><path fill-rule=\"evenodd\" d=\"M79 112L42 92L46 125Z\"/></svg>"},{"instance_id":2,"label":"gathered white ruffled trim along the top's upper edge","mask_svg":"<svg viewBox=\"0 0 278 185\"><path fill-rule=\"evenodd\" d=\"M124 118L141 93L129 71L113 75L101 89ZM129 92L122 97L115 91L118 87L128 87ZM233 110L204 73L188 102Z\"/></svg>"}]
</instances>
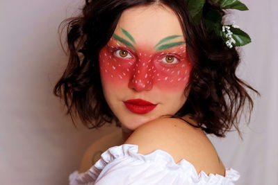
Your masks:
<instances>
[{"instance_id":1,"label":"gathered white ruffled trim along the top's upper edge","mask_svg":"<svg viewBox=\"0 0 278 185\"><path fill-rule=\"evenodd\" d=\"M101 170L111 161L118 158L131 157L134 160L140 160L145 162L153 162L156 165L162 166L168 170L181 170L182 173L192 174L193 182L195 183L211 183L211 182L222 182L223 184L229 184L236 182L240 174L238 171L232 168L226 168L225 177L218 174L206 174L203 170L198 174L193 164L186 159L181 159L179 163L175 163L172 155L164 150L155 150L148 155L142 155L138 153L138 146L132 144L123 144L121 146L114 146L108 148L101 154L101 159L96 162L94 166L85 173L78 173L75 171L70 175L70 182L78 182L79 184L85 184L88 182L95 182Z\"/></svg>"}]
</instances>

